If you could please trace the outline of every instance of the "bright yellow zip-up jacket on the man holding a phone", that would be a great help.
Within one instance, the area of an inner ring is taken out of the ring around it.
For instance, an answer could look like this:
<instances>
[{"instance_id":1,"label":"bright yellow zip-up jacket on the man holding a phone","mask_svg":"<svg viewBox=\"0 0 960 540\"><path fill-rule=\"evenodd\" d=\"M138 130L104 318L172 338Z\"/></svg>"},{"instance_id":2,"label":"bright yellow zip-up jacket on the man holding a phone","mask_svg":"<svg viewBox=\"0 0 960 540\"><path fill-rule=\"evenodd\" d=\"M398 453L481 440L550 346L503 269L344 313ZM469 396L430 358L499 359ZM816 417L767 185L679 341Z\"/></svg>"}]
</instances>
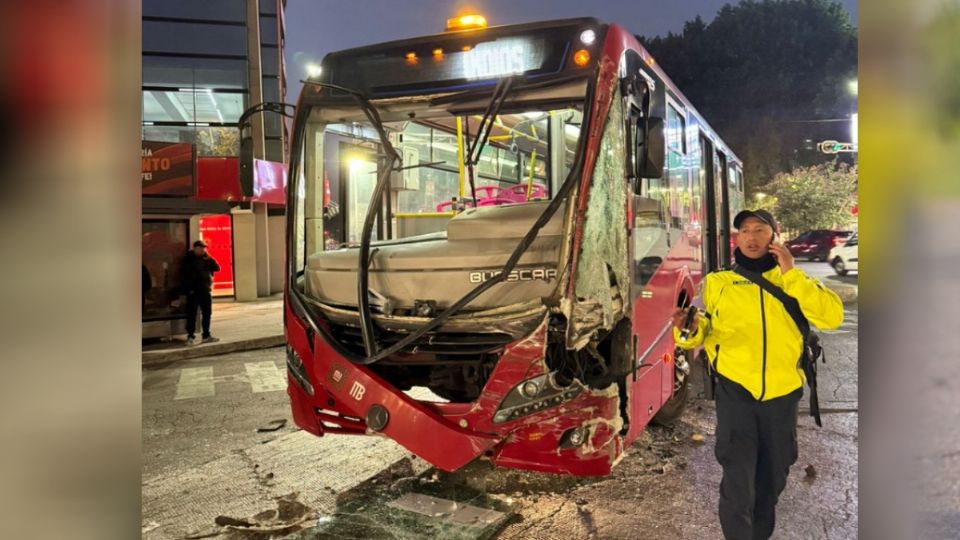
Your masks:
<instances>
[{"instance_id":1,"label":"bright yellow zip-up jacket on the man holding a phone","mask_svg":"<svg viewBox=\"0 0 960 540\"><path fill-rule=\"evenodd\" d=\"M777 266L763 277L797 299L811 326L829 330L843 322L843 302L837 293L799 268L781 274ZM703 345L718 373L760 401L784 396L803 385L805 378L798 364L803 337L776 297L732 270L720 270L704 279L703 303L707 316L700 317L693 336L681 340L674 328L679 347Z\"/></svg>"}]
</instances>

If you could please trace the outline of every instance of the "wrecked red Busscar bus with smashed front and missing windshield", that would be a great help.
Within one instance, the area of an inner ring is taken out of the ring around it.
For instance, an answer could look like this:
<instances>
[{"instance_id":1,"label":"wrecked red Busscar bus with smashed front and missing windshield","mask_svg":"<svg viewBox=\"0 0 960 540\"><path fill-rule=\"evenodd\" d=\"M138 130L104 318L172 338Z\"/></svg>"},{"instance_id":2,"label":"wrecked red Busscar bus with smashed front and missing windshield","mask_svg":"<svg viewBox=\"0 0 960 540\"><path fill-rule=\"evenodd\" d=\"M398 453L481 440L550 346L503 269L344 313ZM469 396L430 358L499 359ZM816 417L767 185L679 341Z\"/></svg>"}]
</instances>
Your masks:
<instances>
[{"instance_id":1,"label":"wrecked red Busscar bus with smashed front and missing windshield","mask_svg":"<svg viewBox=\"0 0 960 540\"><path fill-rule=\"evenodd\" d=\"M249 119L241 177L252 189ZM688 397L671 313L741 165L635 36L571 19L327 55L293 121L294 421L444 470L605 475Z\"/></svg>"}]
</instances>

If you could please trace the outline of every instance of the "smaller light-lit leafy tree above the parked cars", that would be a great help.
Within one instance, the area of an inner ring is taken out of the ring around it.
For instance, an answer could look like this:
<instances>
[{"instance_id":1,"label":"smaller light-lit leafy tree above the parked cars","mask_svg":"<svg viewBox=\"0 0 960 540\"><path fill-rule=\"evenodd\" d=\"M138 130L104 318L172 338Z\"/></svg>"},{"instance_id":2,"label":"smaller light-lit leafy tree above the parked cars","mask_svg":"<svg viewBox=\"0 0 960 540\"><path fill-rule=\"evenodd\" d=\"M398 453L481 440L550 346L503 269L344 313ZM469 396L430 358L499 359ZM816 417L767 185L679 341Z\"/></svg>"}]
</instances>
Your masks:
<instances>
[{"instance_id":1,"label":"smaller light-lit leafy tree above the parked cars","mask_svg":"<svg viewBox=\"0 0 960 540\"><path fill-rule=\"evenodd\" d=\"M822 163L780 173L761 189L767 196L754 207L771 210L783 229L831 229L853 221L857 173L845 163Z\"/></svg>"}]
</instances>

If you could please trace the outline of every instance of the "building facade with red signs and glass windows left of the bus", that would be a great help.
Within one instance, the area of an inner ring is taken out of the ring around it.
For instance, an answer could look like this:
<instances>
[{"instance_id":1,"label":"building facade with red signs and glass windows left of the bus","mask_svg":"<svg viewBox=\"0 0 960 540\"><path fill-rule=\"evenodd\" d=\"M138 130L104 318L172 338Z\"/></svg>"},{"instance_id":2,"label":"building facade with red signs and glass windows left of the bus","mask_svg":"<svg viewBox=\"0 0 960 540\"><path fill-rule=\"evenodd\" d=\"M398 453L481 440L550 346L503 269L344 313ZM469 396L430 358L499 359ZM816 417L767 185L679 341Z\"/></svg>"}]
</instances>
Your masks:
<instances>
[{"instance_id":1,"label":"building facade with red signs and glass windows left of the bus","mask_svg":"<svg viewBox=\"0 0 960 540\"><path fill-rule=\"evenodd\" d=\"M283 289L284 186L240 192L238 120L285 99L286 0L142 5L143 321L152 337L183 326L179 263L194 240L220 263L215 296L249 301ZM282 170L283 118L252 122L254 157Z\"/></svg>"}]
</instances>

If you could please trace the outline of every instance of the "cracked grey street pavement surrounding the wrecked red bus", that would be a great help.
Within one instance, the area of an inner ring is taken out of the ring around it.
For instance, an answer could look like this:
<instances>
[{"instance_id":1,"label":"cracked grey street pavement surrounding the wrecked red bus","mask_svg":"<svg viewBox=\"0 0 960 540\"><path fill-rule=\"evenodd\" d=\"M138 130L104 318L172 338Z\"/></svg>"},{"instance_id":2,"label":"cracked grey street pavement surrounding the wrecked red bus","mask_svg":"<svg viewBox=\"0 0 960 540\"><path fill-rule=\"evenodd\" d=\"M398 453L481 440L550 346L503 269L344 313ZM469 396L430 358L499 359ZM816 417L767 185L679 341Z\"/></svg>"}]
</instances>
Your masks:
<instances>
[{"instance_id":1,"label":"cracked grey street pavement surrounding the wrecked red bus","mask_svg":"<svg viewBox=\"0 0 960 540\"><path fill-rule=\"evenodd\" d=\"M844 325L823 338L823 428L801 402L800 460L778 507L776 539L857 536L856 304L845 311ZM649 428L607 478L494 469L484 461L445 475L388 439L297 430L284 369L282 348L144 366L143 538L239 538L218 536L214 520L253 516L290 494L323 519L336 511L338 496L401 464L400 476L423 473L510 504L518 517L502 539L721 537L712 402L692 399L676 426ZM694 433L705 441L694 442Z\"/></svg>"}]
</instances>

